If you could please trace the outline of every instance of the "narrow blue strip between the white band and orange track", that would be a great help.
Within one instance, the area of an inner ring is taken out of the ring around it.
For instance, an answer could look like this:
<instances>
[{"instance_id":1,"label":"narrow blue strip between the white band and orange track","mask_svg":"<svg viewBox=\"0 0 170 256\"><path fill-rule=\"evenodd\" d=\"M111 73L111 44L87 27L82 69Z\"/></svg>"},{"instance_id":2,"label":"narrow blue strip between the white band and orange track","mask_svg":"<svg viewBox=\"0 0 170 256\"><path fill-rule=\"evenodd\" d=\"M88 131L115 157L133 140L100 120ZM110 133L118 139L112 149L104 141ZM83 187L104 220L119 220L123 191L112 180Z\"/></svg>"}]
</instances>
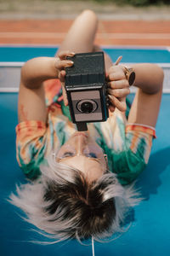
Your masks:
<instances>
[{"instance_id":1,"label":"narrow blue strip between the white band and orange track","mask_svg":"<svg viewBox=\"0 0 170 256\"><path fill-rule=\"evenodd\" d=\"M56 47L0 47L0 61L27 61L36 56L54 56ZM105 49L112 60L120 55L122 62L156 62L169 63L170 52L167 49L132 49L114 48Z\"/></svg>"}]
</instances>

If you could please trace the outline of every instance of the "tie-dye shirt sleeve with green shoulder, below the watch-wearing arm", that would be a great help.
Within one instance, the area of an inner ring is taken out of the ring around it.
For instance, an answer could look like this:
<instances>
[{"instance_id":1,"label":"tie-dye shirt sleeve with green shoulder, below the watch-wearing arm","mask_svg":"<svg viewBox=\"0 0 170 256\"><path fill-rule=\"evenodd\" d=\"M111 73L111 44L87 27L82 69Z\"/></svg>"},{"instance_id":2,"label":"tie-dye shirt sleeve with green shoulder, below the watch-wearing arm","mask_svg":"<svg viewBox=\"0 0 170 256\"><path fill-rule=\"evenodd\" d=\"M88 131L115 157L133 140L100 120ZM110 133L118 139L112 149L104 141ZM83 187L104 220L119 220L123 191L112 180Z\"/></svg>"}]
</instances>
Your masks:
<instances>
[{"instance_id":1,"label":"tie-dye shirt sleeve with green shoulder, below the watch-wearing arm","mask_svg":"<svg viewBox=\"0 0 170 256\"><path fill-rule=\"evenodd\" d=\"M155 129L144 125L127 125L125 130L124 150L115 156L115 172L123 185L132 183L141 172L150 158Z\"/></svg>"}]
</instances>

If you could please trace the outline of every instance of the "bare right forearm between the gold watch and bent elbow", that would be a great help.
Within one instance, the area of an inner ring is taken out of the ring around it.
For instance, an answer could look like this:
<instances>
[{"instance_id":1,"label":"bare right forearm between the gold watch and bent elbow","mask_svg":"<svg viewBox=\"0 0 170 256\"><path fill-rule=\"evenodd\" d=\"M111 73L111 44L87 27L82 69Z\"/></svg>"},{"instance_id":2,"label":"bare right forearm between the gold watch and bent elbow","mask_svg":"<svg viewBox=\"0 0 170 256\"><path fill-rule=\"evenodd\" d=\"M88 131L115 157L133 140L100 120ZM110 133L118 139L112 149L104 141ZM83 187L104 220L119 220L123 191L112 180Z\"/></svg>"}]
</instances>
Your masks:
<instances>
[{"instance_id":1,"label":"bare right forearm between the gold watch and bent elbow","mask_svg":"<svg viewBox=\"0 0 170 256\"><path fill-rule=\"evenodd\" d=\"M149 63L135 64L131 67L136 74L134 86L148 94L156 93L161 89L164 77L161 67Z\"/></svg>"}]
</instances>

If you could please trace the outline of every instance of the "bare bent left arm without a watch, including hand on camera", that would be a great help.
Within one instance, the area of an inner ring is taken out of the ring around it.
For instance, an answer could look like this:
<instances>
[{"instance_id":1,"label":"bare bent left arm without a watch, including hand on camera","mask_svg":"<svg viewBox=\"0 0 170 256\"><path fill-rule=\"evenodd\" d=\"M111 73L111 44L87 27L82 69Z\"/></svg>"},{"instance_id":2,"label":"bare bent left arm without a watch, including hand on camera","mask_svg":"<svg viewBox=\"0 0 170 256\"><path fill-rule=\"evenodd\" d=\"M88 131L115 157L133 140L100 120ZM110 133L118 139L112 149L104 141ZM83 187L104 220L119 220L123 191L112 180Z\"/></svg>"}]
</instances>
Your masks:
<instances>
[{"instance_id":1,"label":"bare bent left arm without a watch, including hand on camera","mask_svg":"<svg viewBox=\"0 0 170 256\"><path fill-rule=\"evenodd\" d=\"M46 122L47 109L43 82L56 79L65 73L65 67L72 66L72 61L65 60L68 51L59 54L59 58L39 57L27 61L21 69L20 92L18 102L19 122L39 120Z\"/></svg>"}]
</instances>

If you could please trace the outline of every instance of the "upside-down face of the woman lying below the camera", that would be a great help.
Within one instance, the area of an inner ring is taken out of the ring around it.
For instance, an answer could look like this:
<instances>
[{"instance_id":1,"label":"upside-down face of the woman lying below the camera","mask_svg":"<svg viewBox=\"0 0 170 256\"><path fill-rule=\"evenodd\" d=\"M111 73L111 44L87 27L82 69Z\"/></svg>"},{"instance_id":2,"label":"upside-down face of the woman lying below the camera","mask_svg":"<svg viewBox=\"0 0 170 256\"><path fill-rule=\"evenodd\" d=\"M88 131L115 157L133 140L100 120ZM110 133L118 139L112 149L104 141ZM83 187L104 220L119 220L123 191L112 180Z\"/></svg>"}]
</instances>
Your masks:
<instances>
[{"instance_id":1,"label":"upside-down face of the woman lying below the camera","mask_svg":"<svg viewBox=\"0 0 170 256\"><path fill-rule=\"evenodd\" d=\"M102 148L89 136L88 131L75 132L55 156L59 163L83 172L88 182L101 177L106 170Z\"/></svg>"}]
</instances>

